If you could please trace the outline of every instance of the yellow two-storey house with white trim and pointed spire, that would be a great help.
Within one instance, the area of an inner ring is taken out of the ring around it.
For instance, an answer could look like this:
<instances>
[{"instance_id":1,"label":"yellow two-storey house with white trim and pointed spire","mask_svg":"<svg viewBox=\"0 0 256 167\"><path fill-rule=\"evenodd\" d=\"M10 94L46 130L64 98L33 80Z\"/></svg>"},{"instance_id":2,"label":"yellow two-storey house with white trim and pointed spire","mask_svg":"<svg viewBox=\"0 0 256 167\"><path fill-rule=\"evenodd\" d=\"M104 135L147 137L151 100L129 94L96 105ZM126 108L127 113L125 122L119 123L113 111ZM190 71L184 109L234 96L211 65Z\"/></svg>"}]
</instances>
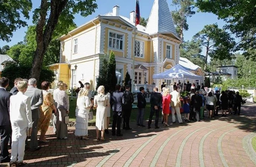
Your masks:
<instances>
[{"instance_id":1,"label":"yellow two-storey house with white trim and pointed spire","mask_svg":"<svg viewBox=\"0 0 256 167\"><path fill-rule=\"evenodd\" d=\"M73 86L78 81L89 82L91 88L95 89L100 60L112 50L116 56L117 83L125 79L127 71L131 74L135 54L136 87L146 81L160 87L164 80L153 80L152 76L178 64L179 46L182 43L176 33L167 0L154 0L147 26L137 25L135 50L135 12L130 12L130 18L127 18L119 15L119 10L119 6L114 6L111 13L98 15L59 38L60 63L50 66L59 75L56 81L67 78L70 86L71 79ZM68 68L69 65L71 68ZM71 76L71 69L75 65L77 70Z\"/></svg>"}]
</instances>

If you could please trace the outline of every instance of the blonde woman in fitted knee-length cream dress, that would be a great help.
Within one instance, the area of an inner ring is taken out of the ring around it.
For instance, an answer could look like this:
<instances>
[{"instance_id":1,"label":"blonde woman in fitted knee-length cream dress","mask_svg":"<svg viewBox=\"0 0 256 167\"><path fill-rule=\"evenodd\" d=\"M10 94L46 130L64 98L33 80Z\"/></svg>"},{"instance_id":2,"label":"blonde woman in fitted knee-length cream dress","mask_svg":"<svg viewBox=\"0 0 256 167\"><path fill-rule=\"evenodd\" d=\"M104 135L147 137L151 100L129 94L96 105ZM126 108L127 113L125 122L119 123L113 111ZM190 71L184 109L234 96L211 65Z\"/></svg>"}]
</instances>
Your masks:
<instances>
[{"instance_id":1,"label":"blonde woman in fitted knee-length cream dress","mask_svg":"<svg viewBox=\"0 0 256 167\"><path fill-rule=\"evenodd\" d=\"M106 107L109 106L109 98L104 94L104 86L99 86L98 95L94 96L94 107L96 110L96 139L105 141L104 130L107 128L107 111ZM101 131L101 138L99 138L99 131Z\"/></svg>"}]
</instances>

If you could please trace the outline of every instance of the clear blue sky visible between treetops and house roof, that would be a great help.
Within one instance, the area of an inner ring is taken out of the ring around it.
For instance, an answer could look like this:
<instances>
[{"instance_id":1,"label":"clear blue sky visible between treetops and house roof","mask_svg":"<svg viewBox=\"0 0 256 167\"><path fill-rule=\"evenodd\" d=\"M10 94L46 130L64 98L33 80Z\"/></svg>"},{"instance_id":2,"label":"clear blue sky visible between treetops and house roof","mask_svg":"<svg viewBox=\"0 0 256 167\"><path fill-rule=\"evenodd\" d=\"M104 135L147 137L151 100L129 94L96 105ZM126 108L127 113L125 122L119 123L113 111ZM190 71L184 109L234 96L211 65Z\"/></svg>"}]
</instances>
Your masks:
<instances>
[{"instance_id":1,"label":"clear blue sky visible between treetops and house roof","mask_svg":"<svg viewBox=\"0 0 256 167\"><path fill-rule=\"evenodd\" d=\"M174 10L175 7L171 6L171 0L167 0L170 10ZM40 6L40 0L32 0L33 2L33 10ZM79 14L75 16L74 22L77 26L84 24L87 21L90 21L94 17L99 14L106 14L112 11L112 7L114 5L120 6L120 15L130 17L130 12L135 10L135 2L136 0L97 0L98 9L96 9L95 13L89 15L88 17L81 17ZM149 17L150 11L152 8L154 0L140 0L140 14L141 17ZM33 11L32 10L32 11ZM28 25L32 24L32 15L33 12L30 12L30 20L28 20ZM217 16L209 13L199 13L197 12L192 17L188 18L187 23L189 24L189 30L184 32L184 40L191 40L192 36L197 32L201 31L204 25L218 23L219 27L222 27L225 22L218 20ZM15 45L19 41L23 41L25 36L25 31L27 27L18 29L14 32L13 37L9 43L5 41L0 41L0 47L4 45Z\"/></svg>"}]
</instances>

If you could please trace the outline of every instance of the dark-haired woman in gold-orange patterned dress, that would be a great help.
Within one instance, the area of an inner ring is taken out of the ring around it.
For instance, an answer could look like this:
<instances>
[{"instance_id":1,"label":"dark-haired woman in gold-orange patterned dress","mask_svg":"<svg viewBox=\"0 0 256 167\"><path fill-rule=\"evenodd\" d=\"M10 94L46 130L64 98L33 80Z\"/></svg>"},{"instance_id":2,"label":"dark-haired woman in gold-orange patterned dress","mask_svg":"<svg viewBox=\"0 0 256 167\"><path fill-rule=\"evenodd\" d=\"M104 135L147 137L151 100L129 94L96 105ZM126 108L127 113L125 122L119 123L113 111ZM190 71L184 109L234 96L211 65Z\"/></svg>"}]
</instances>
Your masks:
<instances>
[{"instance_id":1,"label":"dark-haired woman in gold-orange patterned dress","mask_svg":"<svg viewBox=\"0 0 256 167\"><path fill-rule=\"evenodd\" d=\"M49 142L45 138L45 133L48 130L52 113L56 113L54 99L52 94L48 92L49 89L50 89L50 83L47 81L42 82L43 105L40 107L40 119L38 121L38 131L41 131L39 141L43 143Z\"/></svg>"}]
</instances>

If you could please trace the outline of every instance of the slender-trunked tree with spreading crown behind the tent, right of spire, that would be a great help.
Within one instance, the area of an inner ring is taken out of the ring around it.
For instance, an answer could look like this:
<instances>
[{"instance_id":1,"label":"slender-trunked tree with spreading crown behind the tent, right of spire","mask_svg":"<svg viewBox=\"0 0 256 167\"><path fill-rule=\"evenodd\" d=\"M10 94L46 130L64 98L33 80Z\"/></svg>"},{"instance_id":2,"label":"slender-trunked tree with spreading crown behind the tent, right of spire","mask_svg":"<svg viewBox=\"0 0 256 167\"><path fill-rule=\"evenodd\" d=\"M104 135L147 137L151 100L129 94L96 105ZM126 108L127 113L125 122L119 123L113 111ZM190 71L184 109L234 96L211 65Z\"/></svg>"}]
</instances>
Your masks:
<instances>
[{"instance_id":1,"label":"slender-trunked tree with spreading crown behind the tent, right of spire","mask_svg":"<svg viewBox=\"0 0 256 167\"><path fill-rule=\"evenodd\" d=\"M223 29L218 28L217 24L206 25L199 33L193 37L206 48L206 54L203 57L204 71L206 71L208 56L210 57L228 57L232 59L234 54L232 50L235 46L234 38Z\"/></svg>"}]
</instances>

